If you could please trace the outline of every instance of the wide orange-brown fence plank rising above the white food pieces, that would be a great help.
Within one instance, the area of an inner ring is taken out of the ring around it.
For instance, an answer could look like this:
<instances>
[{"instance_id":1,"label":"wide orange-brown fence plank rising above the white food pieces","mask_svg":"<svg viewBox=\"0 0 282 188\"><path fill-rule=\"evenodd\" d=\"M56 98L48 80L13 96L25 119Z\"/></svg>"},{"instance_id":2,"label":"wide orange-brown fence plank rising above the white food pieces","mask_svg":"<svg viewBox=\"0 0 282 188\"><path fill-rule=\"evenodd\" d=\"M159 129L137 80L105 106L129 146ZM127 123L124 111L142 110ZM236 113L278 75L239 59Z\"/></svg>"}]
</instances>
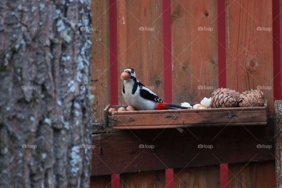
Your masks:
<instances>
[{"instance_id":1,"label":"wide orange-brown fence plank rising above the white food pieces","mask_svg":"<svg viewBox=\"0 0 282 188\"><path fill-rule=\"evenodd\" d=\"M172 101L200 101L218 88L217 1L174 1L171 14Z\"/></svg>"}]
</instances>

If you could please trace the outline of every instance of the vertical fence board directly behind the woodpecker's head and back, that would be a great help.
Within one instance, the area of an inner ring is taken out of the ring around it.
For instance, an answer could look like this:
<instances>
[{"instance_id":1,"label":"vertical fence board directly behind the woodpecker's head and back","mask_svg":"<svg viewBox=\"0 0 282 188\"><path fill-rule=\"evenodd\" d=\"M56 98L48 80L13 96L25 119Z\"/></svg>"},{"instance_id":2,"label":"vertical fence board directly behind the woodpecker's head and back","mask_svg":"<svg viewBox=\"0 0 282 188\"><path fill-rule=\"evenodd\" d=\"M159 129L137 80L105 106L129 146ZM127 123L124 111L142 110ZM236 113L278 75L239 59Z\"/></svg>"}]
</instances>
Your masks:
<instances>
[{"instance_id":1,"label":"vertical fence board directly behind the woodpecker's head and back","mask_svg":"<svg viewBox=\"0 0 282 188\"><path fill-rule=\"evenodd\" d=\"M140 27L154 31L140 31ZM164 98L162 0L117 2L118 71L133 68L137 79ZM119 103L123 82L119 81Z\"/></svg>"}]
</instances>

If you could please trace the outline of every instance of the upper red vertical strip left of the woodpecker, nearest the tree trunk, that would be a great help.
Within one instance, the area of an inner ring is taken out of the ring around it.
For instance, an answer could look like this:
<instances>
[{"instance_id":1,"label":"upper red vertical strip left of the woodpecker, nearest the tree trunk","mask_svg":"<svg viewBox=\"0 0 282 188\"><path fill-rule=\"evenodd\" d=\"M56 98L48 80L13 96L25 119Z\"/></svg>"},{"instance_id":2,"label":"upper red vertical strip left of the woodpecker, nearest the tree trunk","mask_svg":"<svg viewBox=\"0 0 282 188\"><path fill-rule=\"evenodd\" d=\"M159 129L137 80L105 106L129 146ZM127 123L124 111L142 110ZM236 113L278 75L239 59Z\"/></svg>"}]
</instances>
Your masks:
<instances>
[{"instance_id":1,"label":"upper red vertical strip left of the woodpecker, nearest the tree trunk","mask_svg":"<svg viewBox=\"0 0 282 188\"><path fill-rule=\"evenodd\" d=\"M109 0L111 105L118 105L117 1Z\"/></svg>"}]
</instances>

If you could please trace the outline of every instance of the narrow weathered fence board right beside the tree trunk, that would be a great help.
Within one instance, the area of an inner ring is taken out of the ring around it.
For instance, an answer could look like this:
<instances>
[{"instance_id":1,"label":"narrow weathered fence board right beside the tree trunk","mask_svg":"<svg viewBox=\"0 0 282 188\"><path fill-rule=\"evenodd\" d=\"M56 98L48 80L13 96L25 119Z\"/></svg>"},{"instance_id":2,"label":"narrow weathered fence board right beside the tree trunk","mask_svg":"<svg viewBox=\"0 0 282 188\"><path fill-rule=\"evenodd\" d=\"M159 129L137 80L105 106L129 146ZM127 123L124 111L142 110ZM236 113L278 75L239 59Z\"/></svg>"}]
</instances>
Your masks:
<instances>
[{"instance_id":1,"label":"narrow weathered fence board right beside the tree trunk","mask_svg":"<svg viewBox=\"0 0 282 188\"><path fill-rule=\"evenodd\" d=\"M95 87L92 103L94 123L103 122L103 110L110 104L110 43L109 43L109 1L92 1L95 28L92 40L91 86Z\"/></svg>"}]
</instances>

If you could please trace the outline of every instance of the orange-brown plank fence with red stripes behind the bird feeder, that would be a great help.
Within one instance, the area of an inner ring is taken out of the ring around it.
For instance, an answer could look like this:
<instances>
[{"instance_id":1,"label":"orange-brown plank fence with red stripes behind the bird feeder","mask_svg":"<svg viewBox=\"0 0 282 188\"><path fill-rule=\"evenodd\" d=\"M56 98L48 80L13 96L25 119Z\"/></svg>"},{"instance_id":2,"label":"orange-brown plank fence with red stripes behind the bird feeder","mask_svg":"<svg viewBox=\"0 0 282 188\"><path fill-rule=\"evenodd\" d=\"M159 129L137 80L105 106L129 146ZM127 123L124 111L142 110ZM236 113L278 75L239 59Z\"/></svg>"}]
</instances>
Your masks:
<instances>
[{"instance_id":1,"label":"orange-brown plank fence with red stripes behind the bird feeder","mask_svg":"<svg viewBox=\"0 0 282 188\"><path fill-rule=\"evenodd\" d=\"M281 99L281 7L279 0L93 0L94 123L107 104L125 104L119 75L126 67L166 103L199 102L218 87L261 88L273 115ZM91 186L274 187L273 174L273 162L240 163L93 176Z\"/></svg>"}]
</instances>

